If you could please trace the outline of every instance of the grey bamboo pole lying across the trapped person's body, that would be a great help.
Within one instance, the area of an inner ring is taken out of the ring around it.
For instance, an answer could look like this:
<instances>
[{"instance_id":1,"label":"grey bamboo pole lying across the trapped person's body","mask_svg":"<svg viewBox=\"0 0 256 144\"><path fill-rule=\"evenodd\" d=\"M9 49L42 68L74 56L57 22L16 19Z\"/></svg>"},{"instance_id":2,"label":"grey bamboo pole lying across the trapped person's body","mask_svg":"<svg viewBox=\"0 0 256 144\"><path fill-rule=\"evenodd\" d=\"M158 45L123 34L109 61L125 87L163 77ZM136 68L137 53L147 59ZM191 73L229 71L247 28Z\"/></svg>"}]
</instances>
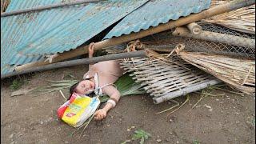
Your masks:
<instances>
[{"instance_id":1,"label":"grey bamboo pole lying across the trapped person's body","mask_svg":"<svg viewBox=\"0 0 256 144\"><path fill-rule=\"evenodd\" d=\"M133 51L133 52L129 52L129 53L108 54L108 55L104 55L101 57L83 58L83 59L71 60L71 61L66 61L66 62L58 62L58 63L46 65L46 66L36 66L36 67L30 68L27 70L22 70L19 72L3 74L3 75L1 75L1 79L10 78L14 75L27 74L27 73L31 73L31 72L35 72L35 71L58 69L61 67L85 65L85 64L90 64L90 63L116 60L116 59L122 59L122 58L146 57L147 53L148 53L148 50L139 50L139 51Z\"/></svg>"}]
</instances>

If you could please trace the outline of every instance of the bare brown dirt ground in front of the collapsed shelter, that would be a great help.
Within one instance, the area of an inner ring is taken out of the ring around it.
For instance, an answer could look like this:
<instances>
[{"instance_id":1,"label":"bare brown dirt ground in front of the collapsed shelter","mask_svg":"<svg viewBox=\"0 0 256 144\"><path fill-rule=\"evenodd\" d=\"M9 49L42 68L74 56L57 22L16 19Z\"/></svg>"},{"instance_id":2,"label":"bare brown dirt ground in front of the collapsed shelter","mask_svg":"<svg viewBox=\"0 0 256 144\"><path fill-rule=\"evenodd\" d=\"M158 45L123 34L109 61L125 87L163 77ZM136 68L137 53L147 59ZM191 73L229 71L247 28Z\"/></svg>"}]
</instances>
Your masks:
<instances>
[{"instance_id":1,"label":"bare brown dirt ground in front of the collapsed shelter","mask_svg":"<svg viewBox=\"0 0 256 144\"><path fill-rule=\"evenodd\" d=\"M45 80L62 80L73 74L82 78L86 66L63 68L30 74L22 89L46 86ZM201 97L189 94L190 101L170 114L155 114L174 106L174 102L154 105L147 95L126 96L110 110L102 122L90 122L71 136L75 128L58 120L56 110L64 102L56 92L35 97L35 94L10 97L13 79L1 83L1 143L121 143L130 139L134 130L142 129L152 135L146 143L255 143L255 97L214 90L193 109ZM67 92L65 93L68 95ZM175 98L184 102L186 97ZM189 112L190 110L190 112ZM133 141L129 143L138 143Z\"/></svg>"}]
</instances>

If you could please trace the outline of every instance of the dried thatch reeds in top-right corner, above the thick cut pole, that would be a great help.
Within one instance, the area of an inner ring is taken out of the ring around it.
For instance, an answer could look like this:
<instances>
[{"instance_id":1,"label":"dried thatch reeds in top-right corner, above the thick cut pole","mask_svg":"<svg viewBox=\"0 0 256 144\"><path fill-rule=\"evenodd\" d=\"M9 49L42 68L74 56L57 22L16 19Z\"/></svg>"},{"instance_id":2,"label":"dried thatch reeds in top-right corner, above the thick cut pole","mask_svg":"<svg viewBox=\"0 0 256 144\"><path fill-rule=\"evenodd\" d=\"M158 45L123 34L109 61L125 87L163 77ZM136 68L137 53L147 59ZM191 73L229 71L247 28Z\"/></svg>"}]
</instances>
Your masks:
<instances>
[{"instance_id":1,"label":"dried thatch reeds in top-right corner, above the thick cut pole","mask_svg":"<svg viewBox=\"0 0 256 144\"><path fill-rule=\"evenodd\" d=\"M211 7L224 4L227 1L213 0ZM202 22L215 23L226 26L232 30L255 34L255 5L242 7L228 13L218 14L214 17L203 19Z\"/></svg>"}]
</instances>

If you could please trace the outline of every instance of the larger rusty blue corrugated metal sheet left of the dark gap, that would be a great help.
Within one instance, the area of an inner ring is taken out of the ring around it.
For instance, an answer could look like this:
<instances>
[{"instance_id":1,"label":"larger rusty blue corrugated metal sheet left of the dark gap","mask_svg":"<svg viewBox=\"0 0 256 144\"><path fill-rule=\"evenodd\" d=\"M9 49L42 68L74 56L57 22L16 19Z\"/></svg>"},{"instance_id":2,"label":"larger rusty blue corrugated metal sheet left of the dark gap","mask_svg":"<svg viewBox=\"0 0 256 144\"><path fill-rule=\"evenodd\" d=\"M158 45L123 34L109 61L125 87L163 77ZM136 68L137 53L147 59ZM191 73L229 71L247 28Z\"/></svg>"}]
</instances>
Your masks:
<instances>
[{"instance_id":1,"label":"larger rusty blue corrugated metal sheet left of the dark gap","mask_svg":"<svg viewBox=\"0 0 256 144\"><path fill-rule=\"evenodd\" d=\"M11 65L22 65L75 49L118 22L148 0L89 3L1 18L1 74ZM46 6L61 0L10 2L6 12Z\"/></svg>"}]
</instances>

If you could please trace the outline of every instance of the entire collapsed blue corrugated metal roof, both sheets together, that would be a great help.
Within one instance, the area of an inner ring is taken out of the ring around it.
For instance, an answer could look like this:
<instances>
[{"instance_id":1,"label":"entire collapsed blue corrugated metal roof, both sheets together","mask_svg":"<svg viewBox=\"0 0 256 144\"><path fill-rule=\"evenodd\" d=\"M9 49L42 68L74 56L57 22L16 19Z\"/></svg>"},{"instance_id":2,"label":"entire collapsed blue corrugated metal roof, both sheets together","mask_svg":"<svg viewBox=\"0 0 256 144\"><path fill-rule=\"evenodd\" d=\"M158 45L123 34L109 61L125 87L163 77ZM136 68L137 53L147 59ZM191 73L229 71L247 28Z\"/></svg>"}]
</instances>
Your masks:
<instances>
[{"instance_id":1,"label":"entire collapsed blue corrugated metal roof, both sheets together","mask_svg":"<svg viewBox=\"0 0 256 144\"><path fill-rule=\"evenodd\" d=\"M58 2L61 1L14 0L6 12ZM142 6L144 3L146 0L111 0L1 18L1 74L12 71L13 65L42 60L43 54L74 49L126 14L105 38L146 30L150 26L198 13L210 6L210 0L151 0ZM8 49L10 47L13 49Z\"/></svg>"}]
</instances>

